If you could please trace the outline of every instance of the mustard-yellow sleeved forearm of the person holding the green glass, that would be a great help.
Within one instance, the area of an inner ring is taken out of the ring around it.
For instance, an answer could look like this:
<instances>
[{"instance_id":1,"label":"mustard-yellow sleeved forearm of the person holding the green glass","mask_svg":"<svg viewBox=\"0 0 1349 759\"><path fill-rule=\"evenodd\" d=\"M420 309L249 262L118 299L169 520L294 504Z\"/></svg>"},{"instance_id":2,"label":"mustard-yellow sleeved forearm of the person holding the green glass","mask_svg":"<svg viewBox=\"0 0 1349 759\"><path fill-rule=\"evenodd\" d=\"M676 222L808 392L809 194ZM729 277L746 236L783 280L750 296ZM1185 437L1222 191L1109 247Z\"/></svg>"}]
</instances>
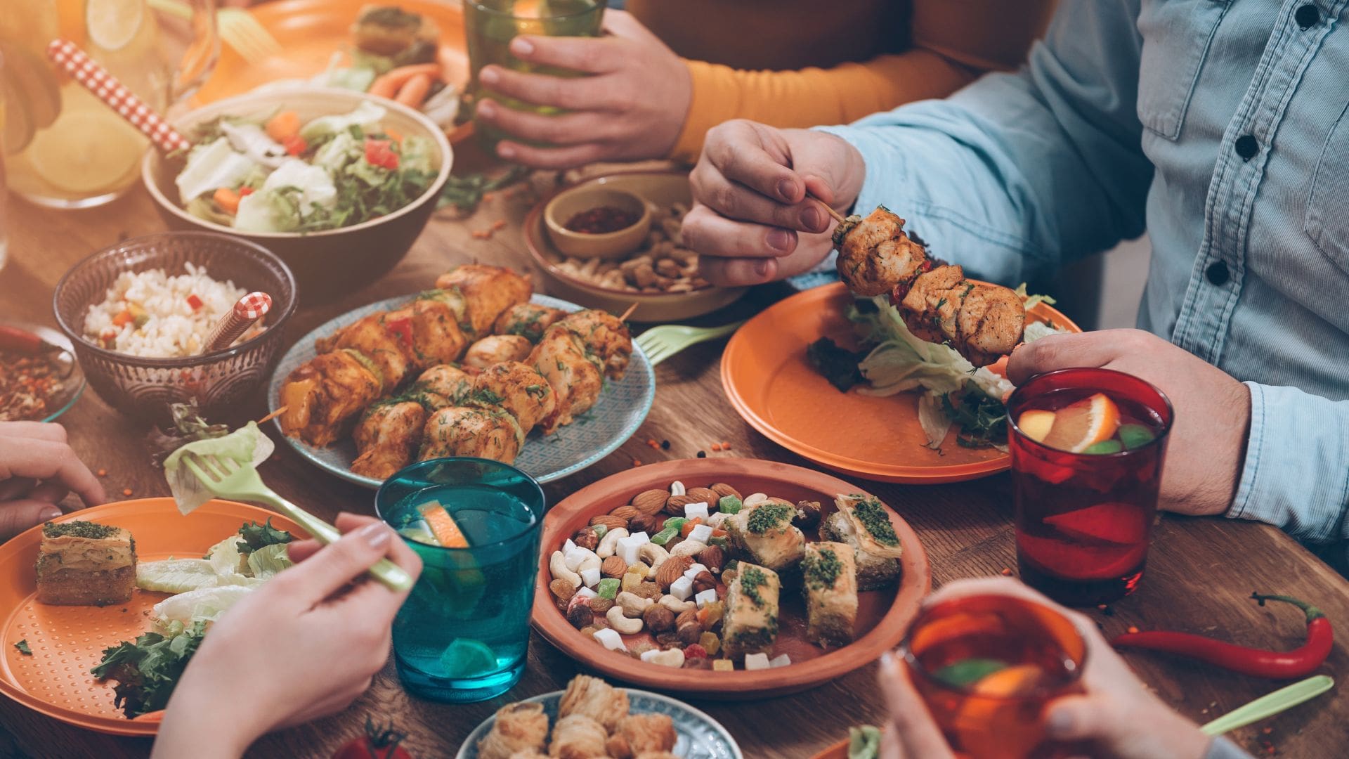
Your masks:
<instances>
[{"instance_id":1,"label":"mustard-yellow sleeved forearm of the person holding the green glass","mask_svg":"<svg viewBox=\"0 0 1349 759\"><path fill-rule=\"evenodd\" d=\"M750 72L687 61L693 97L670 154L696 161L707 130L731 119L774 127L839 124L902 103L946 97L978 70L924 49L832 69Z\"/></svg>"}]
</instances>

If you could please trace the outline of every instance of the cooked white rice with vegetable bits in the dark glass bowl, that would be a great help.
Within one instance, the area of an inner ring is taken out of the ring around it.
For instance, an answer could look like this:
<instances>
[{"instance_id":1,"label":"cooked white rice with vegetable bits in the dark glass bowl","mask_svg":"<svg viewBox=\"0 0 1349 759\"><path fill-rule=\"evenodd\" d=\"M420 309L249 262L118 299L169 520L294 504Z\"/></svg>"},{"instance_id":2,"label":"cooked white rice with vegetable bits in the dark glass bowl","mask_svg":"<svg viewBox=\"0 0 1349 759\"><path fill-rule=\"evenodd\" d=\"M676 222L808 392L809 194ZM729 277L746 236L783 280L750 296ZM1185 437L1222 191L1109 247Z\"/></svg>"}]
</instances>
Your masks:
<instances>
[{"instance_id":1,"label":"cooked white rice with vegetable bits in the dark glass bowl","mask_svg":"<svg viewBox=\"0 0 1349 759\"><path fill-rule=\"evenodd\" d=\"M212 280L204 266L188 263L188 273L170 277L163 269L123 271L108 288L103 303L89 307L85 336L100 346L142 358L197 355L216 325L247 290L233 282ZM197 296L200 308L189 298ZM140 325L130 321L117 327L119 313L143 313ZM240 340L263 330L255 324Z\"/></svg>"}]
</instances>

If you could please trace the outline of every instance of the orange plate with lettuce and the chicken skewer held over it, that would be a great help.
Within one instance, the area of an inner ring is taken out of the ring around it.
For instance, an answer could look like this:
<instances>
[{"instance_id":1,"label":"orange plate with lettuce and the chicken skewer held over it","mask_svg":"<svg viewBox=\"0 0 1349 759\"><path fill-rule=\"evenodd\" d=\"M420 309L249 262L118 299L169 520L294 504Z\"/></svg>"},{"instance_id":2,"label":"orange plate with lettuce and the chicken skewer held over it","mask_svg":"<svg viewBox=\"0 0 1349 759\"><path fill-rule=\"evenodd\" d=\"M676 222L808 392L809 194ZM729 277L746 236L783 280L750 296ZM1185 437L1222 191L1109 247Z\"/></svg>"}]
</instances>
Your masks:
<instances>
[{"instance_id":1,"label":"orange plate with lettuce and the chicken skewer held over it","mask_svg":"<svg viewBox=\"0 0 1349 759\"><path fill-rule=\"evenodd\" d=\"M847 217L834 243L840 282L774 304L726 346L731 405L788 450L867 479L1008 469L1006 355L1081 328L1052 298L935 261L884 207Z\"/></svg>"}]
</instances>

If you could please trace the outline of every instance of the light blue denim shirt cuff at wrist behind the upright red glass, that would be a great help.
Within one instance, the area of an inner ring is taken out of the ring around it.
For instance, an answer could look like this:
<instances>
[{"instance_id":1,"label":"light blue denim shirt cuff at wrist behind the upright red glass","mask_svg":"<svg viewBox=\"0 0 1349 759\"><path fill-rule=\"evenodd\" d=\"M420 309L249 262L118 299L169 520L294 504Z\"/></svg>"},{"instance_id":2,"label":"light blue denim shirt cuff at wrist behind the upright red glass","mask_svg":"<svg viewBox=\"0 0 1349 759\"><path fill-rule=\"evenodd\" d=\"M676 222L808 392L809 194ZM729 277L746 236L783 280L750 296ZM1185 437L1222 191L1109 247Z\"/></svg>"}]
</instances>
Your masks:
<instances>
[{"instance_id":1,"label":"light blue denim shirt cuff at wrist behind the upright red glass","mask_svg":"<svg viewBox=\"0 0 1349 759\"><path fill-rule=\"evenodd\" d=\"M1349 404L1246 382L1251 434L1233 519L1264 521L1309 543L1346 538Z\"/></svg>"}]
</instances>

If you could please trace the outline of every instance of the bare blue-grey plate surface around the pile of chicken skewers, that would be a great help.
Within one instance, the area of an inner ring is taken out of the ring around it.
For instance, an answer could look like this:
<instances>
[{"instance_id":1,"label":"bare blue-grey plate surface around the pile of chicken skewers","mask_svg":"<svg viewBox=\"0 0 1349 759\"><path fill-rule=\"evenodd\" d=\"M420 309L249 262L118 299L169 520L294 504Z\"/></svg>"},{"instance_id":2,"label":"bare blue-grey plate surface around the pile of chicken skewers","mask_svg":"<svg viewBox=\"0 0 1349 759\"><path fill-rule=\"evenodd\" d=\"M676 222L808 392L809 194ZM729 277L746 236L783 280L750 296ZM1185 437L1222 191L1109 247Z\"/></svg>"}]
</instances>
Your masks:
<instances>
[{"instance_id":1,"label":"bare blue-grey plate surface around the pile of chicken skewers","mask_svg":"<svg viewBox=\"0 0 1349 759\"><path fill-rule=\"evenodd\" d=\"M326 338L337 331L339 327L351 324L376 311L398 308L413 297L401 296L363 305L321 324L313 332L301 338L281 358L281 363L277 365L277 370L271 375L271 385L267 390L270 411L277 411L277 398L281 397L281 384L285 382L286 377L299 365L314 358L316 340ZM548 296L534 296L533 303L568 312L581 309L581 307L573 303ZM627 374L618 382L606 382L595 408L548 438L537 432L530 434L519 455L515 458L514 466L540 482L552 482L568 474L575 474L614 452L627 442L633 436L633 432L637 432L637 428L641 427L642 420L646 419L646 413L652 411L653 400L656 400L656 373L652 371L652 365L646 361L642 348L634 344L633 359L627 365ZM277 429L281 429L281 420L277 421ZM356 459L356 444L349 438L344 438L328 448L316 448L294 438L283 439L295 452L309 459L318 469L370 489L379 488L379 479L362 477L351 471L351 462Z\"/></svg>"}]
</instances>

